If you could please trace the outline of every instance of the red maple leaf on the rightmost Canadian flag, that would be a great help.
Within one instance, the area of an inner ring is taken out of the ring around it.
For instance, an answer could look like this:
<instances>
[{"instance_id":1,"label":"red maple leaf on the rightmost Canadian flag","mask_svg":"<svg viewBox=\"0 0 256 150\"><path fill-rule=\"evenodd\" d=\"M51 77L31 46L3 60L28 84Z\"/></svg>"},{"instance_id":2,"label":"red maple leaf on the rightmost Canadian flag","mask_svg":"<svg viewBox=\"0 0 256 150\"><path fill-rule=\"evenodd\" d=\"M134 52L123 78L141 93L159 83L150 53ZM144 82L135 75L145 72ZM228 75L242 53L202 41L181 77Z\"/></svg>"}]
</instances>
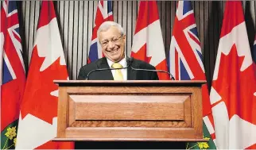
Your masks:
<instances>
[{"instance_id":1,"label":"red maple leaf on the rightmost Canadian flag","mask_svg":"<svg viewBox=\"0 0 256 150\"><path fill-rule=\"evenodd\" d=\"M240 71L244 56L238 56L235 44L227 56L222 53L220 58L219 75L212 83L212 87L221 96L219 102L225 102L229 119L237 114L243 120L256 125L256 82L253 65Z\"/></svg>"}]
</instances>

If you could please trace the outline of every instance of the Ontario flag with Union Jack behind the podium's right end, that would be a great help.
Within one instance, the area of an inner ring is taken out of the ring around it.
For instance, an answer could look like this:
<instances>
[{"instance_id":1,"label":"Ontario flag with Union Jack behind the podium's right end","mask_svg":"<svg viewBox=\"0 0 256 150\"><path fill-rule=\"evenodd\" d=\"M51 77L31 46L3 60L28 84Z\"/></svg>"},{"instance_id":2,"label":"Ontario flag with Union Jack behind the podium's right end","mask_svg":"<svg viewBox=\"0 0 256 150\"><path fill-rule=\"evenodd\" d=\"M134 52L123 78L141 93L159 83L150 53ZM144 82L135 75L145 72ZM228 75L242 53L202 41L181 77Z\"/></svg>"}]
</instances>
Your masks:
<instances>
[{"instance_id":1,"label":"Ontario flag with Union Jack behind the podium's right end","mask_svg":"<svg viewBox=\"0 0 256 150\"><path fill-rule=\"evenodd\" d=\"M190 1L179 1L169 51L169 71L176 80L206 80L200 39ZM187 148L215 148L214 123L207 84L202 87L204 139L209 142L187 144Z\"/></svg>"}]
</instances>

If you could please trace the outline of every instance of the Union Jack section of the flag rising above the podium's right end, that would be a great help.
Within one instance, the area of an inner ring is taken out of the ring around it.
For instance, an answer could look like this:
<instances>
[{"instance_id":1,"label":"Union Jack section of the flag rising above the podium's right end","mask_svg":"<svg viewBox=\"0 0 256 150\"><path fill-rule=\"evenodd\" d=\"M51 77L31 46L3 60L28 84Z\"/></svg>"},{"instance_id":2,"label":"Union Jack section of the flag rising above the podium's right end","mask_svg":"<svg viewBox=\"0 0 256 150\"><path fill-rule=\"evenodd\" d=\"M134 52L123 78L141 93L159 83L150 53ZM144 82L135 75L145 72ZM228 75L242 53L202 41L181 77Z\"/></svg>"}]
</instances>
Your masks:
<instances>
[{"instance_id":1,"label":"Union Jack section of the flag rising above the podium's right end","mask_svg":"<svg viewBox=\"0 0 256 150\"><path fill-rule=\"evenodd\" d=\"M169 52L169 71L176 80L205 79L202 59L191 2L179 1Z\"/></svg>"}]
</instances>

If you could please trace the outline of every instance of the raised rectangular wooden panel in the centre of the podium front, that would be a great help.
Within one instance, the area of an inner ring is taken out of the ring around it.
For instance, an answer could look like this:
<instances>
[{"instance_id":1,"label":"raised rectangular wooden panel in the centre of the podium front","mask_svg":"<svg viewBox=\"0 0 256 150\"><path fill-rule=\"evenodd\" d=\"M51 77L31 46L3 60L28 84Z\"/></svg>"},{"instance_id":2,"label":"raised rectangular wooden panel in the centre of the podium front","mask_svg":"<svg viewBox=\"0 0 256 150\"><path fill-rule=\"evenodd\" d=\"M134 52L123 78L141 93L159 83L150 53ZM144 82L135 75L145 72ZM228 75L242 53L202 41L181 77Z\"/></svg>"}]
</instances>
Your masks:
<instances>
[{"instance_id":1,"label":"raised rectangular wooden panel in the centre of the podium front","mask_svg":"<svg viewBox=\"0 0 256 150\"><path fill-rule=\"evenodd\" d=\"M184 120L189 95L70 95L76 120Z\"/></svg>"}]
</instances>

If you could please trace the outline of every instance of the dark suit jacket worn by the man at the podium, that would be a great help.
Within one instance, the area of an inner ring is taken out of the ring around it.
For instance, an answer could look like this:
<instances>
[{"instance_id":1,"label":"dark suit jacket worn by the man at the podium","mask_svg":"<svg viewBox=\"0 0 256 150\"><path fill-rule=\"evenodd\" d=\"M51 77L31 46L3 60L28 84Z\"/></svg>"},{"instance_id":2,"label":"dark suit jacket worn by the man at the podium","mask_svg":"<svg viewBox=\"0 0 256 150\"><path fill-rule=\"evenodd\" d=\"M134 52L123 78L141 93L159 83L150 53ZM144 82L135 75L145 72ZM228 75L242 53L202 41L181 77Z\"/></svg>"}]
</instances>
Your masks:
<instances>
[{"instance_id":1,"label":"dark suit jacket worn by the man at the podium","mask_svg":"<svg viewBox=\"0 0 256 150\"><path fill-rule=\"evenodd\" d=\"M149 63L145 63L141 60L136 60L130 64L134 68L139 69L150 69L155 70ZM87 74L95 69L100 68L110 68L107 63L107 58L103 57L99 60L96 60L93 63L89 63L80 68L80 73L78 75L78 79L86 79ZM111 70L107 71L94 71L89 75L89 80L114 80ZM157 72L155 71L134 71L131 67L127 68L127 80L158 80Z\"/></svg>"}]
</instances>

